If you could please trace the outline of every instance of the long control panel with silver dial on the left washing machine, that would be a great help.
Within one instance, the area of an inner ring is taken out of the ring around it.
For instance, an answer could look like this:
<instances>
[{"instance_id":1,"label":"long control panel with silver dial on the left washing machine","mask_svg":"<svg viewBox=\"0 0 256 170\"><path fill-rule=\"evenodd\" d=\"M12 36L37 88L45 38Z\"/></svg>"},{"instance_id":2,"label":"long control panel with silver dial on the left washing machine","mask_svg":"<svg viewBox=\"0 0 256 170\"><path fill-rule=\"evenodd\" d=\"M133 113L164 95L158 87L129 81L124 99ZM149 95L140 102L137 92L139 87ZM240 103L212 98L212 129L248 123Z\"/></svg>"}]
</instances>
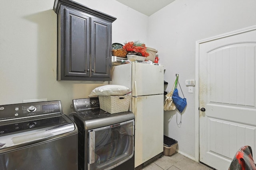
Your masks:
<instances>
[{"instance_id":1,"label":"long control panel with silver dial on the left washing machine","mask_svg":"<svg viewBox=\"0 0 256 170\"><path fill-rule=\"evenodd\" d=\"M0 106L0 121L61 113L60 101L32 102Z\"/></svg>"}]
</instances>

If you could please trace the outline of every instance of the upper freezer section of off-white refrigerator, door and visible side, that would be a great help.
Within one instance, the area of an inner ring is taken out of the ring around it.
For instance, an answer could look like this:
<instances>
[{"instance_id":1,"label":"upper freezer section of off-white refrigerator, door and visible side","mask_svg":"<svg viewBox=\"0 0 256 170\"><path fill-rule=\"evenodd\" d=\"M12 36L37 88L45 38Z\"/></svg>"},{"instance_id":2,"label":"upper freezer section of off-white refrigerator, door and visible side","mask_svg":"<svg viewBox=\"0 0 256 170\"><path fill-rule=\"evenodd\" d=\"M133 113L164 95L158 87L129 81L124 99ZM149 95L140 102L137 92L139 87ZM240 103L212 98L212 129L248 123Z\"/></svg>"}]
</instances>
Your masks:
<instances>
[{"instance_id":1,"label":"upper freezer section of off-white refrigerator, door and visible side","mask_svg":"<svg viewBox=\"0 0 256 170\"><path fill-rule=\"evenodd\" d=\"M132 96L164 93L164 66L131 63L114 66L110 84L130 88Z\"/></svg>"}]
</instances>

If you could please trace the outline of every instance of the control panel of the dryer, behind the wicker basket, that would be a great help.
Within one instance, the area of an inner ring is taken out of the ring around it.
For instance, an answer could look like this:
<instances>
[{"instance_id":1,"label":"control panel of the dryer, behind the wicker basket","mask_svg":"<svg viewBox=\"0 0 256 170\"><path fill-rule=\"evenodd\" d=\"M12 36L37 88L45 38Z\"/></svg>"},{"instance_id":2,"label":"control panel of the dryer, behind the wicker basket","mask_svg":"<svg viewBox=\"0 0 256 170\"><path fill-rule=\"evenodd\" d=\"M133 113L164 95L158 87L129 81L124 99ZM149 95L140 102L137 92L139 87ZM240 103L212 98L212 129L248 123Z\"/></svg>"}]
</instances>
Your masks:
<instances>
[{"instance_id":1,"label":"control panel of the dryer, behind the wicker basket","mask_svg":"<svg viewBox=\"0 0 256 170\"><path fill-rule=\"evenodd\" d=\"M100 108L99 98L74 99L73 110L86 110Z\"/></svg>"}]
</instances>

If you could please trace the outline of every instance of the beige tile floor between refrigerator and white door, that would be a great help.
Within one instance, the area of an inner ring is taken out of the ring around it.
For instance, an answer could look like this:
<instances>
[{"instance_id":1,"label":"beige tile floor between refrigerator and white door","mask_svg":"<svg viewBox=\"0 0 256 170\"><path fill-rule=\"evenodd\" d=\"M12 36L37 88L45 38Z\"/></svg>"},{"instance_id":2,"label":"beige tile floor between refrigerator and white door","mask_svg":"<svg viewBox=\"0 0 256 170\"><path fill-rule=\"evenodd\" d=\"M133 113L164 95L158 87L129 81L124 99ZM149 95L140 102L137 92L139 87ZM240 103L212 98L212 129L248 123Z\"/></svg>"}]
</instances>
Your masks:
<instances>
[{"instance_id":1,"label":"beige tile floor between refrigerator and white door","mask_svg":"<svg viewBox=\"0 0 256 170\"><path fill-rule=\"evenodd\" d=\"M212 170L212 168L175 152L171 156L162 156L142 170Z\"/></svg>"}]
</instances>

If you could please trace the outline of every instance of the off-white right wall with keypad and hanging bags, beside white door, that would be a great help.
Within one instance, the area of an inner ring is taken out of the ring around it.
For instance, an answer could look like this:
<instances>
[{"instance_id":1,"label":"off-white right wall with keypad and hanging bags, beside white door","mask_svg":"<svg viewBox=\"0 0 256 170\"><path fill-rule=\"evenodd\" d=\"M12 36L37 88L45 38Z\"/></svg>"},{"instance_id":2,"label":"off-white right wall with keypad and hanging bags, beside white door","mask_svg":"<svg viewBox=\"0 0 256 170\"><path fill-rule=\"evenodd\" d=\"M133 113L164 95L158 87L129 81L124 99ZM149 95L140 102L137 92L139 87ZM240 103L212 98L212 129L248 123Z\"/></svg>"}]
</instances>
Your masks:
<instances>
[{"instance_id":1,"label":"off-white right wall with keypad and hanging bags, beside white door","mask_svg":"<svg viewBox=\"0 0 256 170\"><path fill-rule=\"evenodd\" d=\"M188 93L185 80L194 80L196 41L256 25L256 0L175 0L149 17L148 39L158 48L159 63L164 63L167 91L178 73L187 98L182 124L176 124L176 111L164 112L164 134L178 141L180 152L195 158L195 88ZM182 92L178 87L179 94ZM180 113L178 113L180 122Z\"/></svg>"}]
</instances>

